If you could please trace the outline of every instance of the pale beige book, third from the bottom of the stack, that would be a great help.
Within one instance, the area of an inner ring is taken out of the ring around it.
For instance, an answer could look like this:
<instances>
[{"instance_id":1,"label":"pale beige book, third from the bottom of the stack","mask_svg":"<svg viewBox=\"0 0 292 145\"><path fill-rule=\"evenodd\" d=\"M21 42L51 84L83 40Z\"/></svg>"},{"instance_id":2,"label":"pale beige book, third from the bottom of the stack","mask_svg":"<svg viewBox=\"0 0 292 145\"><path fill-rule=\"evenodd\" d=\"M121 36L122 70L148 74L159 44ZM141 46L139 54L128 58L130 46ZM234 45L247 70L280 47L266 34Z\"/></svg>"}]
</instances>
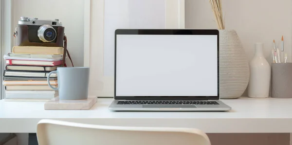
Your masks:
<instances>
[{"instance_id":1,"label":"pale beige book, third from the bottom of the stack","mask_svg":"<svg viewBox=\"0 0 292 145\"><path fill-rule=\"evenodd\" d=\"M10 86L10 85L48 85L48 81L35 81L35 80L29 80L29 81L3 81L2 84L4 86ZM58 85L57 80L50 81L51 85Z\"/></svg>"}]
</instances>

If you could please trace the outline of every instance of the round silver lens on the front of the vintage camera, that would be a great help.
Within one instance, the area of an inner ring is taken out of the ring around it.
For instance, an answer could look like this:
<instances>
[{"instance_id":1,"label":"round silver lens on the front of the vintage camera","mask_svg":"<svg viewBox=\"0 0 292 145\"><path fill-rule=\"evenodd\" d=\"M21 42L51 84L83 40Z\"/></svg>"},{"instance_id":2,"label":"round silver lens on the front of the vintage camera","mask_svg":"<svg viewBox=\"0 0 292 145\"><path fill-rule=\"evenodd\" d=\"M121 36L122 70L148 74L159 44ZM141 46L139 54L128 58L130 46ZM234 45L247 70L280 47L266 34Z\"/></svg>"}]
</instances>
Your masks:
<instances>
[{"instance_id":1,"label":"round silver lens on the front of the vintage camera","mask_svg":"<svg viewBox=\"0 0 292 145\"><path fill-rule=\"evenodd\" d=\"M37 36L43 42L52 42L56 38L56 31L51 25L42 25L37 30Z\"/></svg>"}]
</instances>

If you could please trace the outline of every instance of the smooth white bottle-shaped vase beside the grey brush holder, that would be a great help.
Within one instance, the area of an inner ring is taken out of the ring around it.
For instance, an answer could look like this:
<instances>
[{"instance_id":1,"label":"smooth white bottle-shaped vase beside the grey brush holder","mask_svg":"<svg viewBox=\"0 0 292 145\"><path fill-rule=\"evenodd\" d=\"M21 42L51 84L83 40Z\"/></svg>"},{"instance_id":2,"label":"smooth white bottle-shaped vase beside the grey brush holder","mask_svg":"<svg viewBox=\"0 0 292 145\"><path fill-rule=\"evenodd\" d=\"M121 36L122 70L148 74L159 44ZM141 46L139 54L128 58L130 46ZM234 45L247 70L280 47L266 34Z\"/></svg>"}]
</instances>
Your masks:
<instances>
[{"instance_id":1,"label":"smooth white bottle-shaped vase beside the grey brush holder","mask_svg":"<svg viewBox=\"0 0 292 145\"><path fill-rule=\"evenodd\" d=\"M255 44L255 55L250 62L248 96L267 98L270 91L271 67L263 54L263 43Z\"/></svg>"}]
</instances>

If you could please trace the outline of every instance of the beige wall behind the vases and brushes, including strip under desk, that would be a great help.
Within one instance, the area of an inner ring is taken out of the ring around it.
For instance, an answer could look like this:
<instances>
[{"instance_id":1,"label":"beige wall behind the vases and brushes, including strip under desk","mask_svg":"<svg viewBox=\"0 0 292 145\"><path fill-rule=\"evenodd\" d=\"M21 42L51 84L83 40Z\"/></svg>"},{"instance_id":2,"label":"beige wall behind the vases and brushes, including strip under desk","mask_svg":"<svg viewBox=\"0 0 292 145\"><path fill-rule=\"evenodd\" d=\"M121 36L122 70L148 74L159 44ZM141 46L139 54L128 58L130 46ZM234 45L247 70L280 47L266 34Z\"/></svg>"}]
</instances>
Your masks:
<instances>
[{"instance_id":1,"label":"beige wall behind the vases and brushes, including strip under desk","mask_svg":"<svg viewBox=\"0 0 292 145\"><path fill-rule=\"evenodd\" d=\"M264 54L271 62L273 39L280 48L282 35L292 60L292 0L222 0L222 7L225 29L237 31L249 61L254 43L263 42ZM185 0L185 28L217 29L209 0ZM289 145L290 138L289 133L208 135L212 145Z\"/></svg>"}]
</instances>

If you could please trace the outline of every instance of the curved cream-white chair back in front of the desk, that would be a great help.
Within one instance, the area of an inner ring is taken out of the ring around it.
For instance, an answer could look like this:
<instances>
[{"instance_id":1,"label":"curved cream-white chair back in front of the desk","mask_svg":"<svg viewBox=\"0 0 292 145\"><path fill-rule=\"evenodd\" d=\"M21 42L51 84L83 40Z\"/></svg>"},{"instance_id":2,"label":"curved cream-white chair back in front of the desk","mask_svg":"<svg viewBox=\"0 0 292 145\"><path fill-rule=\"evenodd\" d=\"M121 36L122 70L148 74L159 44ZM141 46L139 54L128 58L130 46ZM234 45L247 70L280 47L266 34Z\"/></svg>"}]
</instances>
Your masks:
<instances>
[{"instance_id":1,"label":"curved cream-white chair back in front of the desk","mask_svg":"<svg viewBox=\"0 0 292 145\"><path fill-rule=\"evenodd\" d=\"M37 124L38 145L211 145L193 128L112 127L56 120Z\"/></svg>"}]
</instances>

